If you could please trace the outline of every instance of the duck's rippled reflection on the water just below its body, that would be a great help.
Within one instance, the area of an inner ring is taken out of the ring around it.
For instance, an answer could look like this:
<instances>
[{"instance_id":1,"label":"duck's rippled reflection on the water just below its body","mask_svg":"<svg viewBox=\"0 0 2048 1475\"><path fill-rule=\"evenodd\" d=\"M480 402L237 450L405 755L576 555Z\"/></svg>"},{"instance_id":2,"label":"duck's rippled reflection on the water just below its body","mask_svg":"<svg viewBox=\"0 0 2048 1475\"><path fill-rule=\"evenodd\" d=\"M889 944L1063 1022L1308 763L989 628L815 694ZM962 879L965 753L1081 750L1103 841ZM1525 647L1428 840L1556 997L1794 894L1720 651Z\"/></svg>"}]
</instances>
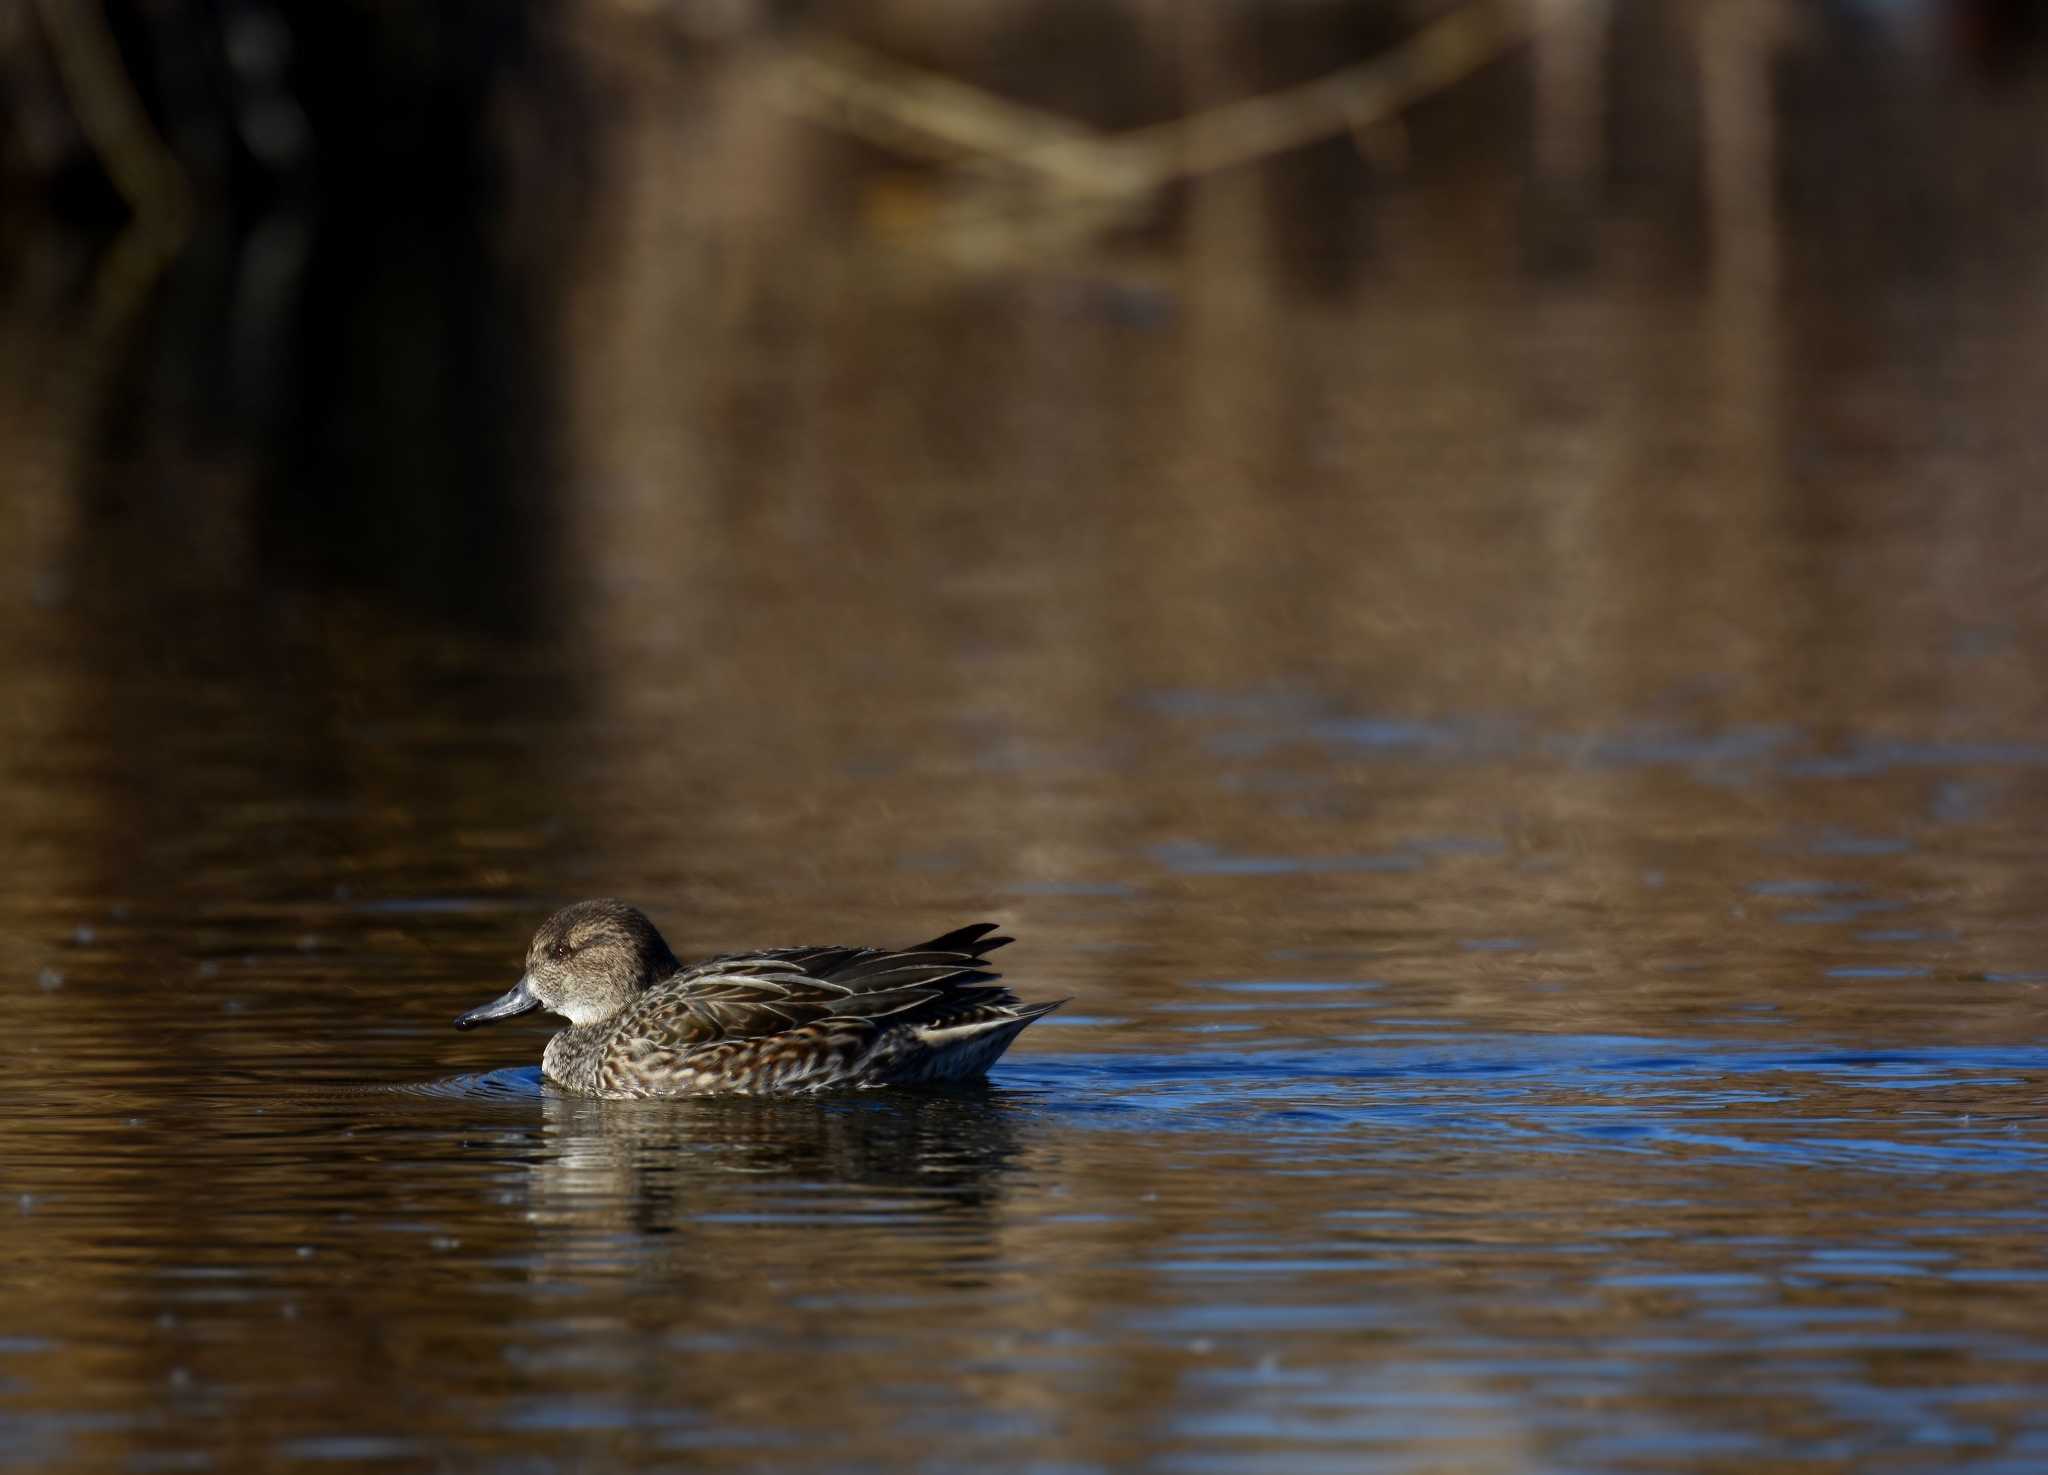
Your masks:
<instances>
[{"instance_id":1,"label":"duck's rippled reflection on the water just below its body","mask_svg":"<svg viewBox=\"0 0 2048 1475\"><path fill-rule=\"evenodd\" d=\"M528 1221L545 1262L594 1252L801 1274L819 1254L877 1272L961 1272L995 1256L1036 1110L989 1086L823 1098L602 1102L549 1096ZM854 1229L854 1235L836 1231ZM887 1233L877 1233L887 1229ZM563 1266L565 1268L565 1266ZM621 1264L621 1268L629 1268Z\"/></svg>"}]
</instances>

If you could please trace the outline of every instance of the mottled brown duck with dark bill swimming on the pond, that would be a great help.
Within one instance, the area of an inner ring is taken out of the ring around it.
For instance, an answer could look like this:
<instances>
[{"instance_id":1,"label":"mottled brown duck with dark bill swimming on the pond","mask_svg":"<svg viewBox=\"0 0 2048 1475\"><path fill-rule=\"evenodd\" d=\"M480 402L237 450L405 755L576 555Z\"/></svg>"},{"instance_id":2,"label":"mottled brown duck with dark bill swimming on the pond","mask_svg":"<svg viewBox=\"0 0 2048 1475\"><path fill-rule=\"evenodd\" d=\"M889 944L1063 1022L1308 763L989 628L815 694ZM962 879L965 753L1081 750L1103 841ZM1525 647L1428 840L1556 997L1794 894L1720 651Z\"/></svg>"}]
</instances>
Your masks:
<instances>
[{"instance_id":1,"label":"mottled brown duck with dark bill swimming on the pond","mask_svg":"<svg viewBox=\"0 0 2048 1475\"><path fill-rule=\"evenodd\" d=\"M680 963L616 897L561 908L467 1030L532 1010L569 1022L543 1076L580 1096L791 1096L973 1082L1067 1000L1024 1004L987 969L1012 942L975 922L907 949L778 946Z\"/></svg>"}]
</instances>

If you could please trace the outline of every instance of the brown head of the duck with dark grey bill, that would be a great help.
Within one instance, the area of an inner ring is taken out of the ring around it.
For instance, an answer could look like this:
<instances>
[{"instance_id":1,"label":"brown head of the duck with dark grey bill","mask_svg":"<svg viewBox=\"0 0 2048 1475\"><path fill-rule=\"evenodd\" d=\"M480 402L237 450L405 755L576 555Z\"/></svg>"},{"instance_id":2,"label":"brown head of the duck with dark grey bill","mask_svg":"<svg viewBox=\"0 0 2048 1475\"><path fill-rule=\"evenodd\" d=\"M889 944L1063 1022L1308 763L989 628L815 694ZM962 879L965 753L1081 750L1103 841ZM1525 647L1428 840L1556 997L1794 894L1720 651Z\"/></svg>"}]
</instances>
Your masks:
<instances>
[{"instance_id":1,"label":"brown head of the duck with dark grey bill","mask_svg":"<svg viewBox=\"0 0 2048 1475\"><path fill-rule=\"evenodd\" d=\"M455 1020L475 1028L545 1008L571 1024L602 1024L647 985L676 971L676 955L633 905L604 897L563 908L532 934L526 975Z\"/></svg>"}]
</instances>

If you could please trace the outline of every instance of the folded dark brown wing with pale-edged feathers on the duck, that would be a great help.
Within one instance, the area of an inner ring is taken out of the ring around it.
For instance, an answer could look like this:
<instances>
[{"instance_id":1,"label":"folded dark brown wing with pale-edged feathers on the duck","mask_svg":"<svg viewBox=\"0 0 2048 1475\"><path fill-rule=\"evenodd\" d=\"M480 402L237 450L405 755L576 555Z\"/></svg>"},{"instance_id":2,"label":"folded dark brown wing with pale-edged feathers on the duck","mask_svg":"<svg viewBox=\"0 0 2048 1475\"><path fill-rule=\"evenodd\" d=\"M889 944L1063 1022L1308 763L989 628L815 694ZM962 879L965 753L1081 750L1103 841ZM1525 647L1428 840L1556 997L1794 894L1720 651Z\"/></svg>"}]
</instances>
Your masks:
<instances>
[{"instance_id":1,"label":"folded dark brown wing with pale-edged feathers on the duck","mask_svg":"<svg viewBox=\"0 0 2048 1475\"><path fill-rule=\"evenodd\" d=\"M872 1035L872 1026L1012 1008L1016 994L985 967L985 955L1012 938L991 932L993 922L979 922L909 949L809 946L705 959L647 989L621 1035L700 1047L813 1024Z\"/></svg>"}]
</instances>

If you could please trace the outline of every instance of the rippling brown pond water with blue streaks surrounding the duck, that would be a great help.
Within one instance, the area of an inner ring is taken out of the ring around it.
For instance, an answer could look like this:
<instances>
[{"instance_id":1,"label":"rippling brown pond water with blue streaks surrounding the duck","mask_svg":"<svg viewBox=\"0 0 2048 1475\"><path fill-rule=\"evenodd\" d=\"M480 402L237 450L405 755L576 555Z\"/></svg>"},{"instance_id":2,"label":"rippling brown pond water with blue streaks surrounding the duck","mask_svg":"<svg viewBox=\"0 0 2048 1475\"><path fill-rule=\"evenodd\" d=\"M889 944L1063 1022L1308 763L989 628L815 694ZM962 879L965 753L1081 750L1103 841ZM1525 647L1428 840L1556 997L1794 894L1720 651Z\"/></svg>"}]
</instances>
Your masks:
<instances>
[{"instance_id":1,"label":"rippling brown pond water with blue streaks surrounding the duck","mask_svg":"<svg viewBox=\"0 0 2048 1475\"><path fill-rule=\"evenodd\" d=\"M520 264L39 256L0 1463L2048 1467L2048 107L1792 129L1761 281L1655 191L1528 268L1499 107L1337 242L1253 172L961 266L621 145ZM449 1020L590 893L1073 1004L561 1098Z\"/></svg>"}]
</instances>

